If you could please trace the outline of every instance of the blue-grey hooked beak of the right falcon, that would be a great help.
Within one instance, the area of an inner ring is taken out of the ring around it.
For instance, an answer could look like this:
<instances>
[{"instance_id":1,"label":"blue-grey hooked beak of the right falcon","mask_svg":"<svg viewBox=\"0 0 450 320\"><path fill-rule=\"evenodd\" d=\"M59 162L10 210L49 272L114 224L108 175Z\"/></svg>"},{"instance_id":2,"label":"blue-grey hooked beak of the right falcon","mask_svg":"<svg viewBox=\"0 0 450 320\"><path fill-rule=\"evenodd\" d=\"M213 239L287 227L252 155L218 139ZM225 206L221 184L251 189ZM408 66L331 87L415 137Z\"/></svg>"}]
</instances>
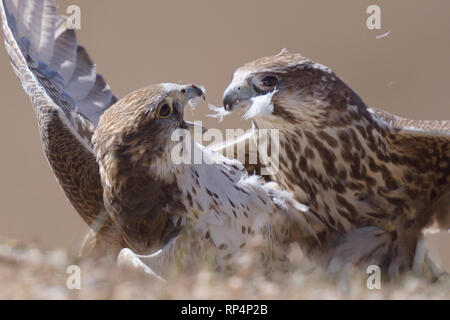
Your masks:
<instances>
[{"instance_id":1,"label":"blue-grey hooked beak of the right falcon","mask_svg":"<svg viewBox=\"0 0 450 320\"><path fill-rule=\"evenodd\" d=\"M251 99L257 95L258 92L247 83L232 82L223 94L223 107L228 112L249 107Z\"/></svg>"}]
</instances>

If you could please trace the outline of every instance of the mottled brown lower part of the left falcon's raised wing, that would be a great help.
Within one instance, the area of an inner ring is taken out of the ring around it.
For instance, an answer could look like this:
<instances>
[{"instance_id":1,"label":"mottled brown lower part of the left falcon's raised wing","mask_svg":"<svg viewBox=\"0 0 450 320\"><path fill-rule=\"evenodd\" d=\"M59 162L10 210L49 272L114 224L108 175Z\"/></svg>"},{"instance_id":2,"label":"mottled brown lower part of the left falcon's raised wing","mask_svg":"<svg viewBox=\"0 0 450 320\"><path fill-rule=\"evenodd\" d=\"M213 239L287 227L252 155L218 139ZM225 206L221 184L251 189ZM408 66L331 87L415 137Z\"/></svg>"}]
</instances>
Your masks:
<instances>
[{"instance_id":1,"label":"mottled brown lower part of the left falcon's raised wing","mask_svg":"<svg viewBox=\"0 0 450 320\"><path fill-rule=\"evenodd\" d=\"M65 195L83 220L95 231L82 254L104 254L121 247L120 236L103 204L98 164L73 137L51 106L37 110L44 153ZM109 248L108 248L109 247Z\"/></svg>"}]
</instances>

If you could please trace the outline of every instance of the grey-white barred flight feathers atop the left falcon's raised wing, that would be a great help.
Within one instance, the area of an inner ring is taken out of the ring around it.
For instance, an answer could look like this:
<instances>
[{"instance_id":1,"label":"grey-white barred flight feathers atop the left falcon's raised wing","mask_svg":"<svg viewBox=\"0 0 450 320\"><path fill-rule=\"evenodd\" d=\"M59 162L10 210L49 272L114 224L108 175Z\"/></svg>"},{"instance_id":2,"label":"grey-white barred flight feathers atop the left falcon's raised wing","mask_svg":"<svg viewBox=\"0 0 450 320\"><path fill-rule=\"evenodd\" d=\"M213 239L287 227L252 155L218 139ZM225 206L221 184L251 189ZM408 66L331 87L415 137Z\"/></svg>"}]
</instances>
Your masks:
<instances>
[{"instance_id":1,"label":"grey-white barred flight feathers atop the left falcon's raised wing","mask_svg":"<svg viewBox=\"0 0 450 320\"><path fill-rule=\"evenodd\" d=\"M56 14L54 0L1 0L5 46L14 72L35 108L51 105L72 123L79 117L94 126L116 98L85 47L77 41L68 17ZM37 98L39 96L39 99Z\"/></svg>"}]
</instances>

